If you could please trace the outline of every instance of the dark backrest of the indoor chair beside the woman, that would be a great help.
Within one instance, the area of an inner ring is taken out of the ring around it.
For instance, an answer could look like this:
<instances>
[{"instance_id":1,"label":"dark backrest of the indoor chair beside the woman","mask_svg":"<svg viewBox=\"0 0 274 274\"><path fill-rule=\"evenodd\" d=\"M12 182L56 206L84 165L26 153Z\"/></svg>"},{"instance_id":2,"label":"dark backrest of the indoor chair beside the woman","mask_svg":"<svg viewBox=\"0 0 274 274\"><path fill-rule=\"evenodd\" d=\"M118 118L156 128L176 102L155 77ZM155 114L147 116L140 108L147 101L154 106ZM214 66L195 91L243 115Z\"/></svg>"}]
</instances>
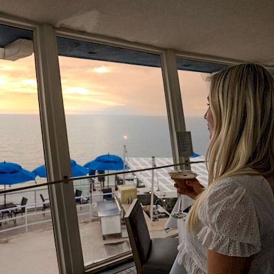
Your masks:
<instances>
[{"instance_id":1,"label":"dark backrest of the indoor chair beside the woman","mask_svg":"<svg viewBox=\"0 0 274 274\"><path fill-rule=\"evenodd\" d=\"M125 214L125 224L127 225L137 272L142 273L142 264L145 264L151 247L151 238L149 237L149 229L138 199L133 200L127 214Z\"/></svg>"}]
</instances>

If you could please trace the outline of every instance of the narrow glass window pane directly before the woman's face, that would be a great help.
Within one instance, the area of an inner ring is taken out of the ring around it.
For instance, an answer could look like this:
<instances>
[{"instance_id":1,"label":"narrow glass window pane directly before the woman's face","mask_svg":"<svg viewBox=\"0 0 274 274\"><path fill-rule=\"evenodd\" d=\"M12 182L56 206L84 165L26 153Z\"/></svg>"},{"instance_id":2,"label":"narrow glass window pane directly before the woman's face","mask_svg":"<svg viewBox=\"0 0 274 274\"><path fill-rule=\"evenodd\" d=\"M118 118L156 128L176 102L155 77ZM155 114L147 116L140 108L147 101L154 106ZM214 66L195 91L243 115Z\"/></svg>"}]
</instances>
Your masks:
<instances>
[{"instance_id":1,"label":"narrow glass window pane directly before the woman's face","mask_svg":"<svg viewBox=\"0 0 274 274\"><path fill-rule=\"evenodd\" d=\"M186 130L191 132L195 153L205 155L209 142L206 120L208 109L208 77L227 65L177 58L179 85L182 95Z\"/></svg>"}]
</instances>

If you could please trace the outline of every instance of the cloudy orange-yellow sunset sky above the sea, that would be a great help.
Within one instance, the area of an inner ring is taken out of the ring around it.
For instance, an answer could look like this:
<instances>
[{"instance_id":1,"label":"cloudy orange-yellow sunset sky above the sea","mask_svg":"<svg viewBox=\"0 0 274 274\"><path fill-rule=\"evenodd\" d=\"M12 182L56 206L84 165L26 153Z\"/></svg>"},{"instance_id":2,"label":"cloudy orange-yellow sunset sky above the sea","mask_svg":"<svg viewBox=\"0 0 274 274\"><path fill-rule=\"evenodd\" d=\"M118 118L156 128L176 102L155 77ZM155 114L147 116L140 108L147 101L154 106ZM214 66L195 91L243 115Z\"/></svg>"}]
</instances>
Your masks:
<instances>
[{"instance_id":1,"label":"cloudy orange-yellow sunset sky above the sea","mask_svg":"<svg viewBox=\"0 0 274 274\"><path fill-rule=\"evenodd\" d=\"M66 114L166 116L160 68L60 56ZM206 73L179 71L186 116L206 112ZM34 55L0 60L0 114L38 114Z\"/></svg>"}]
</instances>

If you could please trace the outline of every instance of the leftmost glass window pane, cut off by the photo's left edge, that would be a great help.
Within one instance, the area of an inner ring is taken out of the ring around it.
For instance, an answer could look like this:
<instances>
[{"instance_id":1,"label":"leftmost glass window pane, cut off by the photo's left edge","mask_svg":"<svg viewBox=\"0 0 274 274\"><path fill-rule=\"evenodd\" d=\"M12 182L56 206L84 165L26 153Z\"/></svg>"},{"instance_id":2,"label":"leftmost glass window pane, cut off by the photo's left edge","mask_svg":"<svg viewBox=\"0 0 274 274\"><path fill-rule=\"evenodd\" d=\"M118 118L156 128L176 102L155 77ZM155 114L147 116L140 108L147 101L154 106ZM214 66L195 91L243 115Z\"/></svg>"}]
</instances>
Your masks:
<instances>
[{"instance_id":1,"label":"leftmost glass window pane, cut off by the photo's left edge","mask_svg":"<svg viewBox=\"0 0 274 274\"><path fill-rule=\"evenodd\" d=\"M1 171L8 162L27 171L45 164L32 40L29 30L0 25ZM1 190L35 184L32 177L18 177L27 182L15 184L12 175L4 182L0 176ZM40 194L49 198L47 188L39 186L0 195L1 273L58 273L49 201L44 212Z\"/></svg>"}]
</instances>

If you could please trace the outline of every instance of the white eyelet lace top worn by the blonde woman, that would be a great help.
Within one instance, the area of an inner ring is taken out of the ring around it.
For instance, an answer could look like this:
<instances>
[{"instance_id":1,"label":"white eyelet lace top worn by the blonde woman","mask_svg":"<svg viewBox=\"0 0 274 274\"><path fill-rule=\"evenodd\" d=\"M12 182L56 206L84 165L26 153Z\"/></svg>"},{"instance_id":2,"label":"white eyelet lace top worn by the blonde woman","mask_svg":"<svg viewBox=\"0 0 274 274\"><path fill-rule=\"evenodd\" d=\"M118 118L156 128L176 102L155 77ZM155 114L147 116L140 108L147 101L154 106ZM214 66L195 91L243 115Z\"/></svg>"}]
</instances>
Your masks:
<instances>
[{"instance_id":1,"label":"white eyelet lace top worn by the blonde woman","mask_svg":"<svg viewBox=\"0 0 274 274\"><path fill-rule=\"evenodd\" d=\"M253 255L249 274L274 273L274 195L264 177L221 180L198 216L198 233L187 232L178 247L178 262L188 274L207 273L208 249L227 256Z\"/></svg>"}]
</instances>

